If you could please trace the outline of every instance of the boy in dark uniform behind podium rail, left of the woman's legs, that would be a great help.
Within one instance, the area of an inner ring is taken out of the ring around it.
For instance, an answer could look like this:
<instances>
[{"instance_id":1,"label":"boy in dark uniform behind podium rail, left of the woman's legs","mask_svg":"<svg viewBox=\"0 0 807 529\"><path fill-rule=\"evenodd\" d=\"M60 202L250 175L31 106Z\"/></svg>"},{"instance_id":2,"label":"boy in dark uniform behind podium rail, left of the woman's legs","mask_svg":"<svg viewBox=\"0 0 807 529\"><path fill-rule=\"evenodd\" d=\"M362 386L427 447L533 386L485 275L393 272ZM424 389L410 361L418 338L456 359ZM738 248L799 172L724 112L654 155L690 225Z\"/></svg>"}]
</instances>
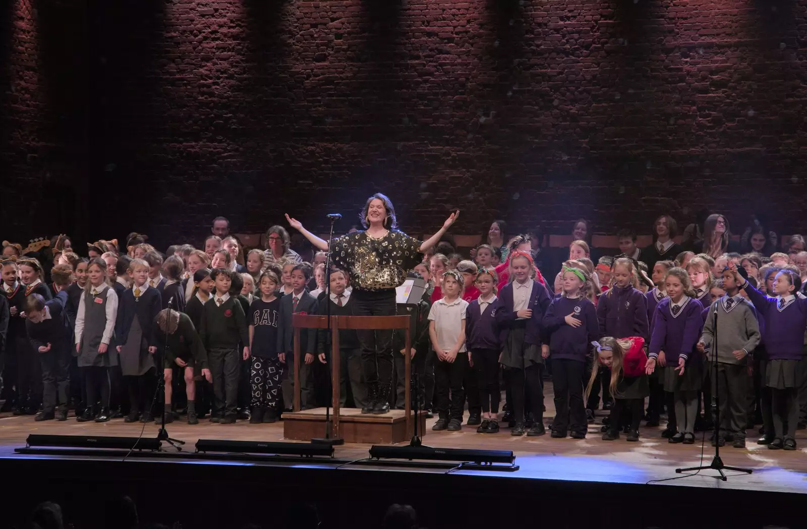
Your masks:
<instances>
[{"instance_id":1,"label":"boy in dark uniform behind podium rail, left of the woman's legs","mask_svg":"<svg viewBox=\"0 0 807 529\"><path fill-rule=\"evenodd\" d=\"M348 275L344 270L335 269L331 272L331 287L317 298L319 314L328 313L331 304L332 316L352 316L353 304L350 302ZM320 353L320 362L326 364L331 356L331 336L327 329L320 329L316 340L317 351ZM353 394L353 406L364 408L367 405L367 388L362 381L362 349L358 344L358 335L355 329L341 329L339 331L339 360L340 377L339 405L345 406L348 398L348 383Z\"/></svg>"}]
</instances>

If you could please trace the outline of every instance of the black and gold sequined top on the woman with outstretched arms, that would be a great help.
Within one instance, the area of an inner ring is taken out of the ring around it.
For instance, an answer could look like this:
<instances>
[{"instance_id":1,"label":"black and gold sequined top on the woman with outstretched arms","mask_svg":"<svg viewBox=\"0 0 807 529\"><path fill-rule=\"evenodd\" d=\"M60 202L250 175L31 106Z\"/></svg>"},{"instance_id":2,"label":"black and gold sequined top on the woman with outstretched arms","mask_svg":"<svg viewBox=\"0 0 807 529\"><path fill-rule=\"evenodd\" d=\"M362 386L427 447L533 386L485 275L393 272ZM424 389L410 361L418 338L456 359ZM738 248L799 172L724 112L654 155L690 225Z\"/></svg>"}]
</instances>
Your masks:
<instances>
[{"instance_id":1,"label":"black and gold sequined top on the woman with outstretched arms","mask_svg":"<svg viewBox=\"0 0 807 529\"><path fill-rule=\"evenodd\" d=\"M353 231L333 240L332 259L350 274L354 289L394 289L403 284L407 272L423 259L420 244L398 230L380 239L373 239L365 231Z\"/></svg>"}]
</instances>

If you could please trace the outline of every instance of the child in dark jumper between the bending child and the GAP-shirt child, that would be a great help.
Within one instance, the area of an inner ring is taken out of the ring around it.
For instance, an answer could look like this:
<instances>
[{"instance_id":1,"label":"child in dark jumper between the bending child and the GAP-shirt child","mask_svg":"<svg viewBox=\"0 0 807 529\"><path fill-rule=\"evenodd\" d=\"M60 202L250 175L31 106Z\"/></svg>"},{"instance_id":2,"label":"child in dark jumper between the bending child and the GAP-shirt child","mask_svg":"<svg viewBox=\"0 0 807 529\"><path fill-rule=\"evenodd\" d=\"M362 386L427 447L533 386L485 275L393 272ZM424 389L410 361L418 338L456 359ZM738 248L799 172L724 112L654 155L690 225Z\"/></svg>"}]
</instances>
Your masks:
<instances>
[{"instance_id":1,"label":"child in dark jumper between the bending child and the GAP-shirt child","mask_svg":"<svg viewBox=\"0 0 807 529\"><path fill-rule=\"evenodd\" d=\"M249 358L249 329L243 307L229 292L232 272L213 269L211 279L215 281L215 295L205 303L199 330L213 378L215 399L210 420L232 424L236 422L239 362ZM244 344L242 354L239 342Z\"/></svg>"}]
</instances>

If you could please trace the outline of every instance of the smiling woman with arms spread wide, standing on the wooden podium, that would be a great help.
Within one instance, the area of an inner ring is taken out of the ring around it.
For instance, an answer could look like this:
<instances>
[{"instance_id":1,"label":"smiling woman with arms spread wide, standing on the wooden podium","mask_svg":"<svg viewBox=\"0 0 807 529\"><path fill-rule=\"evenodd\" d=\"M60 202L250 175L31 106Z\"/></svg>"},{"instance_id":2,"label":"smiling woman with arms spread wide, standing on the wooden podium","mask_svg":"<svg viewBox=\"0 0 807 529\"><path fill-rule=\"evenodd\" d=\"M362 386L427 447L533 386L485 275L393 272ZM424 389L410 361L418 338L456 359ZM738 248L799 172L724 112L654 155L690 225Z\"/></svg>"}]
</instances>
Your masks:
<instances>
[{"instance_id":1,"label":"smiling woman with arms spread wide, standing on the wooden podium","mask_svg":"<svg viewBox=\"0 0 807 529\"><path fill-rule=\"evenodd\" d=\"M395 207L386 195L367 198L359 213L364 231L353 231L332 241L332 259L350 274L353 315L395 315L395 288L409 270L423 260L423 252L433 248L454 224L459 211L452 213L428 240L420 242L399 231ZM323 252L328 242L307 231L298 220L286 215L289 225ZM392 331L358 331L362 346L362 371L367 384L368 404L362 413L384 414L390 406L387 396L392 384Z\"/></svg>"}]
</instances>

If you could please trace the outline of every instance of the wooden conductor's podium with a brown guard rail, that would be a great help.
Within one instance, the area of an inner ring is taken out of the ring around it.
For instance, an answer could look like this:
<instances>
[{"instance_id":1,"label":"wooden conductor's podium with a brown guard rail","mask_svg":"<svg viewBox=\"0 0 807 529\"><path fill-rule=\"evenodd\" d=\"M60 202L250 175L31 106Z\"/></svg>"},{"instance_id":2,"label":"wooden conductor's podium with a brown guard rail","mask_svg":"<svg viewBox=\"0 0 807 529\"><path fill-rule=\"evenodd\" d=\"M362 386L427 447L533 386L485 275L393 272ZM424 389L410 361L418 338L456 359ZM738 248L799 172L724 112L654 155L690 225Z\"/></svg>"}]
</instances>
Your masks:
<instances>
[{"instance_id":1,"label":"wooden conductor's podium with a brown guard rail","mask_svg":"<svg viewBox=\"0 0 807 529\"><path fill-rule=\"evenodd\" d=\"M406 334L405 351L412 349L412 340L409 334L409 316L331 316L331 400L332 435L345 439L345 443L369 444L395 444L412 439L414 435L414 414L412 414L412 398L409 380L412 374L412 358L404 355L406 379L404 386L403 410L390 410L386 414L362 414L361 410L350 409L341 411L339 407L341 361L339 351L339 331L341 329L354 330L392 330L403 329ZM301 354L299 349L300 329L327 329L328 316L315 316L307 314L294 314L291 326L295 333L295 401L294 411L282 414L283 436L286 439L311 440L323 437L326 427L325 408L313 410L300 410L300 383L299 365ZM395 352L393 352L395 355ZM317 361L317 360L315 360ZM425 414L417 417L418 431L425 428Z\"/></svg>"}]
</instances>

